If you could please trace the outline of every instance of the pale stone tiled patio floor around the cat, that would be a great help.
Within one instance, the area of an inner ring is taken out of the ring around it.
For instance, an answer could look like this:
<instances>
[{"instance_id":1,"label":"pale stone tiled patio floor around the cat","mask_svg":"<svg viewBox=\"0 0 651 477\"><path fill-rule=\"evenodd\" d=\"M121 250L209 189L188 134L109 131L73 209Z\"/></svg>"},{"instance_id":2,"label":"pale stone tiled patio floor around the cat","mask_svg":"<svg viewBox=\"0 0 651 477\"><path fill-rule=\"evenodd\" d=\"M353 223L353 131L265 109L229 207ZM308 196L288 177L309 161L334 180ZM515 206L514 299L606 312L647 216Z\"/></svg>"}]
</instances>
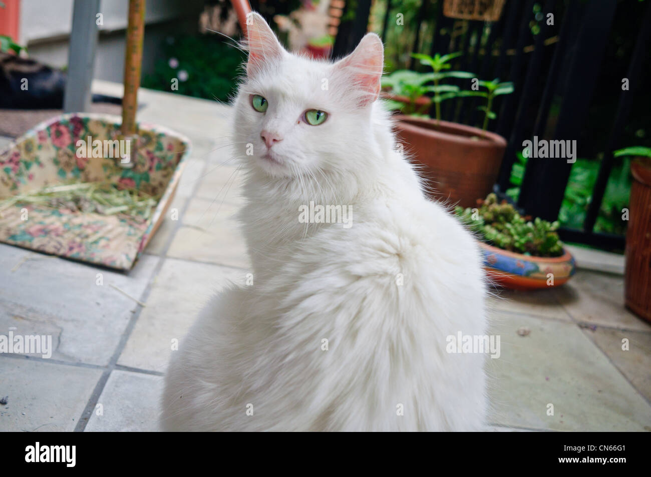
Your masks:
<instances>
[{"instance_id":1,"label":"pale stone tiled patio floor around the cat","mask_svg":"<svg viewBox=\"0 0 651 477\"><path fill-rule=\"evenodd\" d=\"M0 245L0 334L51 334L55 348L50 359L0 355L0 431L156 429L172 340L212 292L247 273L229 219L239 182L220 139L229 109L148 90L139 100L139 119L193 141L171 206L179 219L166 219L128 274ZM651 430L651 326L624 309L622 286L618 275L581 270L558 290L493 300L502 346L488 359L488 429Z\"/></svg>"}]
</instances>

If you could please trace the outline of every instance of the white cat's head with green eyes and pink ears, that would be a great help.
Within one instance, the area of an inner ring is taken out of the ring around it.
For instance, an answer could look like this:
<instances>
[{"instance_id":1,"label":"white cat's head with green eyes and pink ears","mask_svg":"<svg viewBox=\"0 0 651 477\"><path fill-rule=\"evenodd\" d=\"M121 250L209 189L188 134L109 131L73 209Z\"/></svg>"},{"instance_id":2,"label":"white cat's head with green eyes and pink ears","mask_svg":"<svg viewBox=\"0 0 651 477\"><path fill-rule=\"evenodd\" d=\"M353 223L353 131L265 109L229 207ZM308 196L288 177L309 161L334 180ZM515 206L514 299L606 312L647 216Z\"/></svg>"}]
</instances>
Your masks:
<instances>
[{"instance_id":1,"label":"white cat's head with green eyes and pink ears","mask_svg":"<svg viewBox=\"0 0 651 477\"><path fill-rule=\"evenodd\" d=\"M372 148L383 48L368 33L347 57L288 53L266 21L247 18L249 59L235 101L237 156L270 176L359 169Z\"/></svg>"}]
</instances>

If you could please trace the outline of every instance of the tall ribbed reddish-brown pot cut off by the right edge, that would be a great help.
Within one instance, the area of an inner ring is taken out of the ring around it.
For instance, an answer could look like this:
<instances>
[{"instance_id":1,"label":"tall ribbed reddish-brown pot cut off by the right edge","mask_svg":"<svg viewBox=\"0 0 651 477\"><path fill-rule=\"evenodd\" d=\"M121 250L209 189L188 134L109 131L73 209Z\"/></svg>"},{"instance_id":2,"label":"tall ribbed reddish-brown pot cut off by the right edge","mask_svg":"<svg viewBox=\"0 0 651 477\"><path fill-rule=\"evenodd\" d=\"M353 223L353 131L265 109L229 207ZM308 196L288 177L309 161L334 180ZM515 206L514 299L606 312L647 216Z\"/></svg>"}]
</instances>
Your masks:
<instances>
[{"instance_id":1,"label":"tall ribbed reddish-brown pot cut off by the right edge","mask_svg":"<svg viewBox=\"0 0 651 477\"><path fill-rule=\"evenodd\" d=\"M626 307L651 321L651 167L631 163L633 185L626 231Z\"/></svg>"}]
</instances>

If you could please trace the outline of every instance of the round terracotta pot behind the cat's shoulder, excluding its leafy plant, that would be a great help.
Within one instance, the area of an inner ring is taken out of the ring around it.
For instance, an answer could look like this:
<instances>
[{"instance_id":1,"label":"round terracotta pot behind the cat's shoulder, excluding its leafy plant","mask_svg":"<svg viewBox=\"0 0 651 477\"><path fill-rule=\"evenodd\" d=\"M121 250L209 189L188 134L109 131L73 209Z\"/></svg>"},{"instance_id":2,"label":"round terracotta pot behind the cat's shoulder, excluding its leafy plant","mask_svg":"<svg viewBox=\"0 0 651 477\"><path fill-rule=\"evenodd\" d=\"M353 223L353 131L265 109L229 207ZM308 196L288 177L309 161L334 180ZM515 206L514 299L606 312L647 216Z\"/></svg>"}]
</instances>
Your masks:
<instances>
[{"instance_id":1,"label":"round terracotta pot behind the cat's shoulder, excluding its leafy plant","mask_svg":"<svg viewBox=\"0 0 651 477\"><path fill-rule=\"evenodd\" d=\"M471 126L396 115L396 133L406 151L425 166L430 197L473 207L493 190L506 139Z\"/></svg>"}]
</instances>

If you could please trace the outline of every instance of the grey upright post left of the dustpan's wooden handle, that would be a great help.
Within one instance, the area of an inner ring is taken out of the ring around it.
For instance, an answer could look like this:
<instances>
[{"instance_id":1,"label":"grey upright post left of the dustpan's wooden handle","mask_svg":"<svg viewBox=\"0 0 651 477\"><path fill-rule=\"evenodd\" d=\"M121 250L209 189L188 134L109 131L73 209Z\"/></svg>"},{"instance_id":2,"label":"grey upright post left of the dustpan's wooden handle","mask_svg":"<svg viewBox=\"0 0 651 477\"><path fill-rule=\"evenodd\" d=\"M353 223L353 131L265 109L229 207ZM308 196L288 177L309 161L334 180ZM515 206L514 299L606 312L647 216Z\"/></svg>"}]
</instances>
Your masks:
<instances>
[{"instance_id":1,"label":"grey upright post left of the dustpan's wooden handle","mask_svg":"<svg viewBox=\"0 0 651 477\"><path fill-rule=\"evenodd\" d=\"M75 0L68 48L68 76L63 99L66 113L90 111L90 83L94 70L100 0Z\"/></svg>"}]
</instances>

